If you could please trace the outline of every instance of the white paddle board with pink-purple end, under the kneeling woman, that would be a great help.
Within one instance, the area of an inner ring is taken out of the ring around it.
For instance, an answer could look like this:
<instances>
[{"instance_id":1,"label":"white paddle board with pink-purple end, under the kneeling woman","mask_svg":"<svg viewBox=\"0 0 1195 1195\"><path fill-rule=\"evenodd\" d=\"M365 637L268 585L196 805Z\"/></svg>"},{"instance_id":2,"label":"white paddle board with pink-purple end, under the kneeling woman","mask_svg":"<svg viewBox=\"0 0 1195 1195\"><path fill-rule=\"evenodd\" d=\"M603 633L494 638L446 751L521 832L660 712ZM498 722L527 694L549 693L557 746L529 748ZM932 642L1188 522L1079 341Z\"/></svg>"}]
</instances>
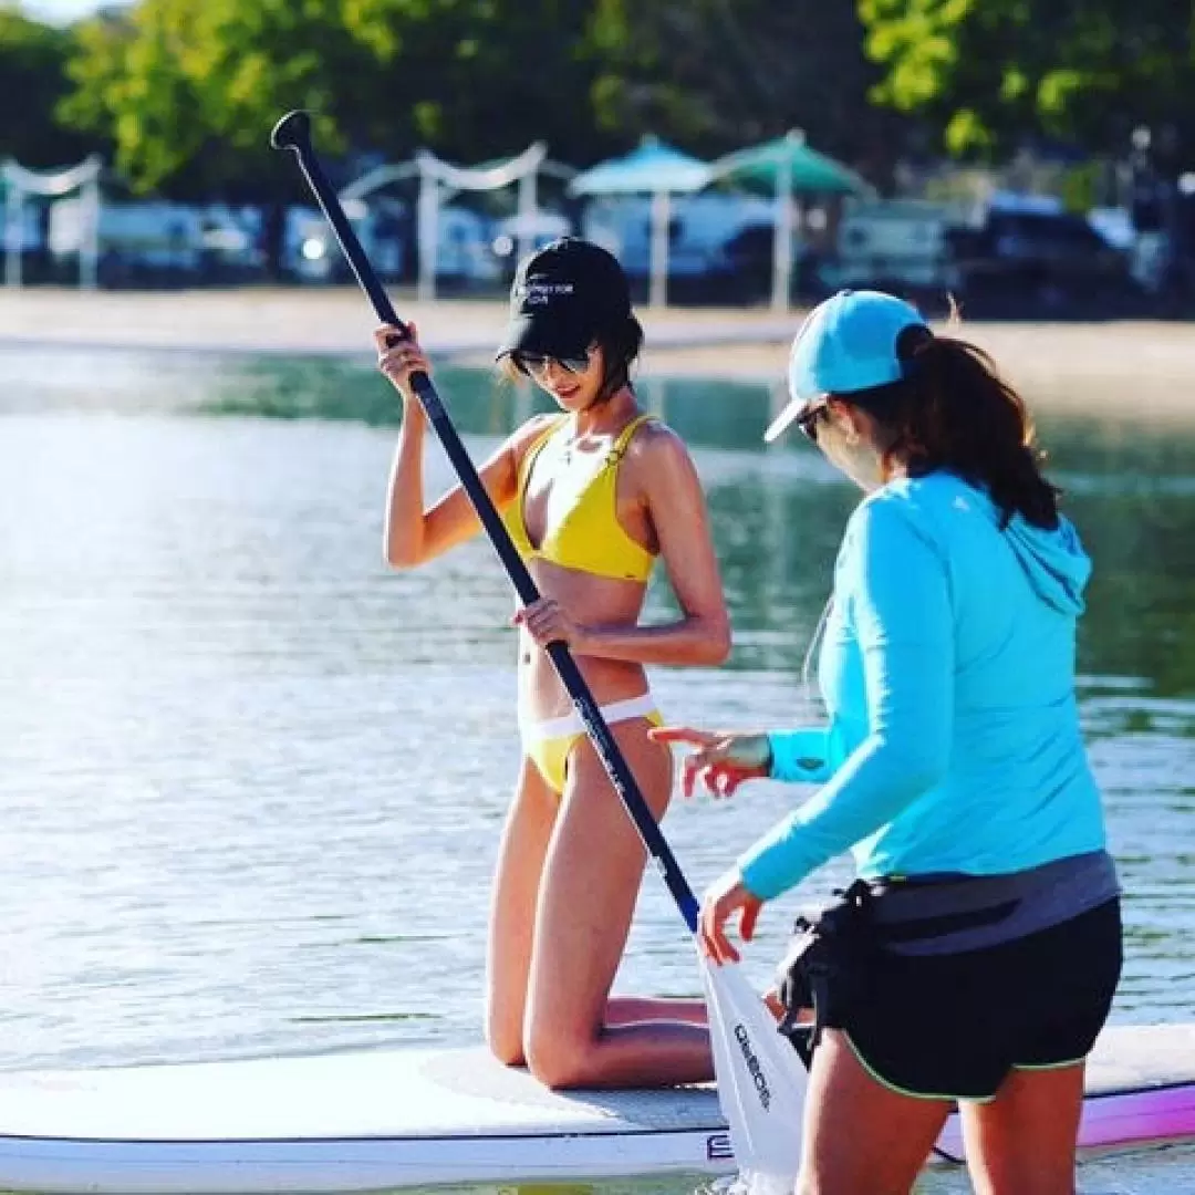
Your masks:
<instances>
[{"instance_id":1,"label":"white paddle board with pink-purple end, under the kneeling woman","mask_svg":"<svg viewBox=\"0 0 1195 1195\"><path fill-rule=\"evenodd\" d=\"M1086 1148L1195 1136L1195 1024L1109 1028L1087 1087ZM961 1156L954 1122L942 1145ZM734 1170L712 1086L557 1095L482 1049L0 1076L4 1191L317 1195Z\"/></svg>"}]
</instances>

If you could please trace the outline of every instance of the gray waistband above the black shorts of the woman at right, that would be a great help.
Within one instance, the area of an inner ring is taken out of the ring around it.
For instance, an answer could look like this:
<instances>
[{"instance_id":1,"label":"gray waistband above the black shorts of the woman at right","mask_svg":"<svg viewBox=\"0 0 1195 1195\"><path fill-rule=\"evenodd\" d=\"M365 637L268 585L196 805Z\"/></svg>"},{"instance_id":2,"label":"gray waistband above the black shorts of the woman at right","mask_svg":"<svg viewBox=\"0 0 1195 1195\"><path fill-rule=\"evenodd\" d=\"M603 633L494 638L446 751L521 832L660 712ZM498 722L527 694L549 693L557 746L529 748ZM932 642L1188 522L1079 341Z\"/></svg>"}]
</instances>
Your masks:
<instances>
[{"instance_id":1,"label":"gray waistband above the black shorts of the woman at right","mask_svg":"<svg viewBox=\"0 0 1195 1195\"><path fill-rule=\"evenodd\" d=\"M1116 865L1107 851L1055 859L998 876L944 876L884 882L874 885L871 915L876 925L915 929L926 933L887 943L902 955L955 954L1012 942L1079 917L1120 894ZM991 911L992 919L982 913ZM962 929L936 929L932 923L979 914Z\"/></svg>"}]
</instances>

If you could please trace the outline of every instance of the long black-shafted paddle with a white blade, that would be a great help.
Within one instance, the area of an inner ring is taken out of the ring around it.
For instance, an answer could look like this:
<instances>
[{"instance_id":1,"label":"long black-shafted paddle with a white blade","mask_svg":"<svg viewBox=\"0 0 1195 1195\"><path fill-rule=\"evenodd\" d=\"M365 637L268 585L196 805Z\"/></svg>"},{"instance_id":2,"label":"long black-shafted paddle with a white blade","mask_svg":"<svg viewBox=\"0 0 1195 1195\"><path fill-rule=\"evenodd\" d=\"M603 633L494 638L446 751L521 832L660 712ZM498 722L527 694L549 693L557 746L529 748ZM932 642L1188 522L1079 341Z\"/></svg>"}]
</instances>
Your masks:
<instances>
[{"instance_id":1,"label":"long black-shafted paddle with a white blade","mask_svg":"<svg viewBox=\"0 0 1195 1195\"><path fill-rule=\"evenodd\" d=\"M292 149L317 202L356 275L361 289L384 324L405 332L388 295L369 264L344 209L311 143L311 117L302 111L282 117L270 134L276 149ZM453 427L427 374L411 379L415 391L448 460L452 462L477 516L502 560L523 605L539 600L539 589L482 485L465 446ZM601 716L596 700L564 643L551 643L549 657L572 698L586 733L598 752L609 782L635 822L691 933L697 933L699 905L676 858L651 816L614 736ZM796 1178L801 1157L801 1122L804 1104L804 1071L796 1064L792 1048L777 1032L776 1022L764 1003L734 966L718 967L699 954L705 986L710 1037L718 1081L718 1097L730 1126L735 1159L752 1177L760 1176L789 1184Z\"/></svg>"}]
</instances>

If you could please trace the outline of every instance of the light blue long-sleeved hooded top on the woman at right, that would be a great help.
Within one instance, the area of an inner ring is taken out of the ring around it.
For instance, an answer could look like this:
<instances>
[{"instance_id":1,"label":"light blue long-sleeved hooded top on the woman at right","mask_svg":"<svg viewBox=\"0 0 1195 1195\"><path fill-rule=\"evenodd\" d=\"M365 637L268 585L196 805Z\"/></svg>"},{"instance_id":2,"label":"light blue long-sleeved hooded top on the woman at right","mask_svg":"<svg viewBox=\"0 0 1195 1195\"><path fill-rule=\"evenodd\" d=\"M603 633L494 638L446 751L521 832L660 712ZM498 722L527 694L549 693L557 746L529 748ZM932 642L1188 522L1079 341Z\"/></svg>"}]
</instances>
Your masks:
<instances>
[{"instance_id":1,"label":"light blue long-sleeved hooded top on the woman at right","mask_svg":"<svg viewBox=\"0 0 1195 1195\"><path fill-rule=\"evenodd\" d=\"M825 782L739 866L771 900L852 850L859 875L999 875L1104 848L1074 694L1091 563L954 474L891 482L847 523L819 657L829 724L770 736Z\"/></svg>"}]
</instances>

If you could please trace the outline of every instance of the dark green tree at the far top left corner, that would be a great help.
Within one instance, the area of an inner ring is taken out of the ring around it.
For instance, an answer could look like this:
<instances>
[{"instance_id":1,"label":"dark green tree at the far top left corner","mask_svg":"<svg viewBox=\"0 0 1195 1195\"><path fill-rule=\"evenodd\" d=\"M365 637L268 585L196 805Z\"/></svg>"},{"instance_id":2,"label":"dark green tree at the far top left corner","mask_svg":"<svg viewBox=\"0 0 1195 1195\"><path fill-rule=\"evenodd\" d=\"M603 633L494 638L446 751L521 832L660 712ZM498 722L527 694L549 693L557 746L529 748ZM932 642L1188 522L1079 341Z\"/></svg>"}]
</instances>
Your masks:
<instances>
[{"instance_id":1,"label":"dark green tree at the far top left corner","mask_svg":"<svg viewBox=\"0 0 1195 1195\"><path fill-rule=\"evenodd\" d=\"M23 166L73 165L94 145L55 123L54 110L69 91L69 31L0 8L0 157Z\"/></svg>"}]
</instances>

